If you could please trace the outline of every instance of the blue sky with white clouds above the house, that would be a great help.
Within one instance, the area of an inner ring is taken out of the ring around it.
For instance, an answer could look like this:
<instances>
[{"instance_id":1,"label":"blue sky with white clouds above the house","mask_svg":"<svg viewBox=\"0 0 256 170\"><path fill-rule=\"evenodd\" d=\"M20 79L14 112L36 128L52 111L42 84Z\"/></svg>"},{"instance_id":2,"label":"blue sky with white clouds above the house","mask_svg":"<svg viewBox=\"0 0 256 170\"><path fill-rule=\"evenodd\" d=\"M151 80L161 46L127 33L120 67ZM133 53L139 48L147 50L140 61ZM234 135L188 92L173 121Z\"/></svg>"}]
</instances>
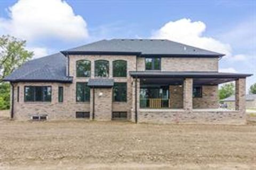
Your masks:
<instances>
[{"instance_id":1,"label":"blue sky with white clouds above the house","mask_svg":"<svg viewBox=\"0 0 256 170\"><path fill-rule=\"evenodd\" d=\"M256 1L0 0L0 35L34 58L100 39L161 38L226 54L219 71L256 83Z\"/></svg>"}]
</instances>

